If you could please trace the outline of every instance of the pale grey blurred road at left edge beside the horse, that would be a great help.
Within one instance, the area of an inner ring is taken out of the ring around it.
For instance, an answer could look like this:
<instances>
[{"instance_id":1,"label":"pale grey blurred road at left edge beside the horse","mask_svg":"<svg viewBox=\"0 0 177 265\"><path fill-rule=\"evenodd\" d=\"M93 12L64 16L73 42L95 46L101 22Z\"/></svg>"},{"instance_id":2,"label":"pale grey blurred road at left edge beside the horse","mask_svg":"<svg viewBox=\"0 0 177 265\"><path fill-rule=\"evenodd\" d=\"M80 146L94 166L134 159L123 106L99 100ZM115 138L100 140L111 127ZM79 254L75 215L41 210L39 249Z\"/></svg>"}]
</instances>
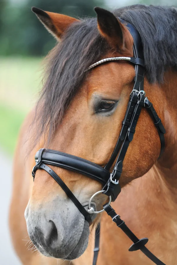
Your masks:
<instances>
[{"instance_id":1,"label":"pale grey blurred road at left edge beside the horse","mask_svg":"<svg viewBox=\"0 0 177 265\"><path fill-rule=\"evenodd\" d=\"M14 253L8 228L8 208L12 188L12 161L0 150L0 264L20 265Z\"/></svg>"}]
</instances>

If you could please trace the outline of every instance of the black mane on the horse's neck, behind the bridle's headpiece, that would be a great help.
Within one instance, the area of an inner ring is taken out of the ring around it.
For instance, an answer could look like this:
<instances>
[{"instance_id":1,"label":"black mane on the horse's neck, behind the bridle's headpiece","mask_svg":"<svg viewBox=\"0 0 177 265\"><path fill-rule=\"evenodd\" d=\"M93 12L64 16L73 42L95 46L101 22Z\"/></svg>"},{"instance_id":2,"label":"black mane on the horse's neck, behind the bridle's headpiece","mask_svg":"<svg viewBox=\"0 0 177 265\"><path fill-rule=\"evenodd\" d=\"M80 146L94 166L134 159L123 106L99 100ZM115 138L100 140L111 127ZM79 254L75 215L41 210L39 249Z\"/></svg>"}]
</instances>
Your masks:
<instances>
[{"instance_id":1,"label":"black mane on the horse's neck, behind the bridle's headpiece","mask_svg":"<svg viewBox=\"0 0 177 265\"><path fill-rule=\"evenodd\" d=\"M113 11L140 33L150 83L163 82L167 68L177 70L177 9L133 5Z\"/></svg>"}]
</instances>

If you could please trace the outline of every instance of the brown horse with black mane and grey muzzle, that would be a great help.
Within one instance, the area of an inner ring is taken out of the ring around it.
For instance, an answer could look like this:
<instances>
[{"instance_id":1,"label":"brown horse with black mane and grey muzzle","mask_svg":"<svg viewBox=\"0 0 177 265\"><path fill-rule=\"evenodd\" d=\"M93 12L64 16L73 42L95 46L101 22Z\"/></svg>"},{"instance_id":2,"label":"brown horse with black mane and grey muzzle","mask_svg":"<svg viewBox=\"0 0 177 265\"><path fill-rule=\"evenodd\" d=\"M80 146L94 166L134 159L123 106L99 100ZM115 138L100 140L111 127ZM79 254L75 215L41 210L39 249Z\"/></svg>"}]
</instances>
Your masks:
<instances>
[{"instance_id":1,"label":"brown horse with black mane and grey muzzle","mask_svg":"<svg viewBox=\"0 0 177 265\"><path fill-rule=\"evenodd\" d=\"M134 40L127 23L141 37L144 90L165 127L165 149L159 158L157 128L142 108L123 161L122 191L111 205L138 237L148 236L147 247L153 254L165 264L177 264L177 9L133 5L110 12L95 8L97 19L32 11L58 43L47 57L39 100L24 120L14 155L9 226L22 264L91 265L99 222L97 265L152 264L140 250L128 252L130 239L105 212L91 214L89 226L45 170L36 171L34 183L31 176L39 148L68 153L102 168L108 163L121 132L135 67L122 60L88 69L104 58L133 57ZM91 196L103 188L81 173L50 168L85 209ZM107 202L102 193L93 199L97 210Z\"/></svg>"}]
</instances>

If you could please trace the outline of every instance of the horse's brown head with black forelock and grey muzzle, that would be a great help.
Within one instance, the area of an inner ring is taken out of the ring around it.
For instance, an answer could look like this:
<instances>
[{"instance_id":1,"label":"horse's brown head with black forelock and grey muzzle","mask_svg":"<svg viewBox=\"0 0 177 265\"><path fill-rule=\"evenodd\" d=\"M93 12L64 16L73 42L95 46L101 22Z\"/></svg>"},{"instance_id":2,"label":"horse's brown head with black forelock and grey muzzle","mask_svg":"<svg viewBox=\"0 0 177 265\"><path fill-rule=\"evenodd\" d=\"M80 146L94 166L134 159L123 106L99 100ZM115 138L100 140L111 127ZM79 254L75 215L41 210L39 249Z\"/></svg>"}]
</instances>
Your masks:
<instances>
[{"instance_id":1,"label":"horse's brown head with black forelock and grey muzzle","mask_svg":"<svg viewBox=\"0 0 177 265\"><path fill-rule=\"evenodd\" d=\"M126 61L112 61L87 70L109 57L133 57L133 37L113 13L95 8L96 19L78 20L62 14L32 9L59 44L49 55L47 78L37 103L36 130L42 147L89 160L104 167L114 150L122 128L135 67ZM164 121L159 85L145 76L145 92ZM41 140L42 141L42 140ZM160 140L154 122L142 109L133 141L126 152L122 175L124 187L154 165ZM112 168L114 167L114 164ZM85 209L102 184L87 176L51 165ZM99 194L93 200L97 211L108 201ZM85 251L89 233L100 216L91 214L89 223L62 188L44 170L37 170L32 195L25 211L32 242L46 256L76 259Z\"/></svg>"}]
</instances>

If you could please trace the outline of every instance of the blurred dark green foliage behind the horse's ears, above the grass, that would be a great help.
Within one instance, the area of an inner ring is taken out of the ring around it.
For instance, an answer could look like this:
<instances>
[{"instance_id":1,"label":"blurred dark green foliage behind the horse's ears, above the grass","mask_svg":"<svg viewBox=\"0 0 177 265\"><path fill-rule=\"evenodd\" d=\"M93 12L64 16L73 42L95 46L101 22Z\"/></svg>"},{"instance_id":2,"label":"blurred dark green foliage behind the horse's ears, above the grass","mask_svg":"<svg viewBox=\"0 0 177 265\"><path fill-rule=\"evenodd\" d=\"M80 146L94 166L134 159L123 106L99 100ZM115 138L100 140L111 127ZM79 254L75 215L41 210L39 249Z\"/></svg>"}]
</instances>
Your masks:
<instances>
[{"instance_id":1,"label":"blurred dark green foliage behind the horse's ears, above the grass","mask_svg":"<svg viewBox=\"0 0 177 265\"><path fill-rule=\"evenodd\" d=\"M19 4L20 3L20 4ZM31 7L73 17L95 16L94 6L104 7L103 0L0 0L0 55L46 55L55 45L31 11Z\"/></svg>"}]
</instances>

